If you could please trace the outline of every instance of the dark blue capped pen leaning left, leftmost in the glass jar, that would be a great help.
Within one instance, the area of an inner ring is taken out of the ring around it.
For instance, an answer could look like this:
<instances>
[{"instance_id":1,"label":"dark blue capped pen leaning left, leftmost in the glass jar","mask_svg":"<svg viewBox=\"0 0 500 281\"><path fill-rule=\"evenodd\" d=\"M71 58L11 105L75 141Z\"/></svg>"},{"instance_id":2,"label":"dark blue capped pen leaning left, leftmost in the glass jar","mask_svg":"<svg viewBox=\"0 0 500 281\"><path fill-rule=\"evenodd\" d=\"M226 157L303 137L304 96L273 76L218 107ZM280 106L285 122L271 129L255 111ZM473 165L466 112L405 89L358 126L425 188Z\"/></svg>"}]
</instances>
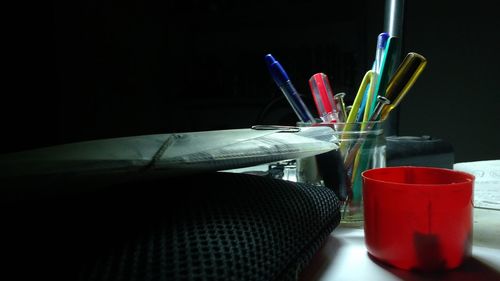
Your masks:
<instances>
[{"instance_id":1,"label":"dark blue capped pen leaning left, leftmost in the glass jar","mask_svg":"<svg viewBox=\"0 0 500 281\"><path fill-rule=\"evenodd\" d=\"M273 58L271 54L267 54L265 57L265 61L267 67L269 68L269 72L274 79L274 82L281 89L286 99L290 103L295 111L295 114L299 117L302 122L315 122L314 117L311 112L307 109L304 101L299 96L299 93L293 86L290 78L286 74L285 70L281 66L281 64Z\"/></svg>"}]
</instances>

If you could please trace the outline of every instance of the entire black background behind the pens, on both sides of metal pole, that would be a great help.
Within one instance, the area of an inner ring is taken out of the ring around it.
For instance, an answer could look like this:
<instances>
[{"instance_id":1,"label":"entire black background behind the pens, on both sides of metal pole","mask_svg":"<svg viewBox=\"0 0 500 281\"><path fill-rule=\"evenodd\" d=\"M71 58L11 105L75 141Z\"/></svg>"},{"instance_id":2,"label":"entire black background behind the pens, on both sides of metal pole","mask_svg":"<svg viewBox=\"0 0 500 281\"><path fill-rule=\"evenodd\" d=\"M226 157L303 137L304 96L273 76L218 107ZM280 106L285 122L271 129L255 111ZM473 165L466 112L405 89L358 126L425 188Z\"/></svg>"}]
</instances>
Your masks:
<instances>
[{"instance_id":1,"label":"entire black background behind the pens, on both sides of metal pole","mask_svg":"<svg viewBox=\"0 0 500 281\"><path fill-rule=\"evenodd\" d=\"M141 134L294 124L272 53L312 106L326 73L351 102L383 31L384 1L67 1L6 8L2 151ZM450 142L456 162L500 158L493 1L407 1L403 52L428 65L398 135Z\"/></svg>"}]
</instances>

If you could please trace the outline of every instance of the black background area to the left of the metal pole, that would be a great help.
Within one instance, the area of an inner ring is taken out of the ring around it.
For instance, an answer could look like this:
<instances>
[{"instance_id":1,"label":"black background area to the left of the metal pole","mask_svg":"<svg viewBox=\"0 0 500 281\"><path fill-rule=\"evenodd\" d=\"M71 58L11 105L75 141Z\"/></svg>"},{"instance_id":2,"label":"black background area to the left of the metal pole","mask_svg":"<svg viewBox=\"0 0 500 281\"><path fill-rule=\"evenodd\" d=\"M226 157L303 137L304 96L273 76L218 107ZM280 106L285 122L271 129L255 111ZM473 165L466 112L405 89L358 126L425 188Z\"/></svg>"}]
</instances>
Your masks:
<instances>
[{"instance_id":1,"label":"black background area to the left of the metal pole","mask_svg":"<svg viewBox=\"0 0 500 281\"><path fill-rule=\"evenodd\" d=\"M13 9L17 69L3 151L294 124L264 64L267 53L308 105L311 75L324 72L334 90L354 92L368 61L364 1L94 0L32 8Z\"/></svg>"}]
</instances>

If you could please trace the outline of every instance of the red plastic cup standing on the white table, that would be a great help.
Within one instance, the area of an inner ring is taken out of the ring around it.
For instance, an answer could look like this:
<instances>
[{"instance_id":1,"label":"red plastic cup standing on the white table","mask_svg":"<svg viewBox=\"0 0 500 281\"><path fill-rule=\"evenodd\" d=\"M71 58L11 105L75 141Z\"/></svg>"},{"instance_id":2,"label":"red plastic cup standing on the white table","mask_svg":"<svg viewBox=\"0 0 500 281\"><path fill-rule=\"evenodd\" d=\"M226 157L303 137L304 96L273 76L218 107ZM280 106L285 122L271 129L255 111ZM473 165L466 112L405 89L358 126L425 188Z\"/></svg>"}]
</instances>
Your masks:
<instances>
[{"instance_id":1,"label":"red plastic cup standing on the white table","mask_svg":"<svg viewBox=\"0 0 500 281\"><path fill-rule=\"evenodd\" d=\"M472 251L474 176L430 167L364 171L365 244L406 270L453 269Z\"/></svg>"}]
</instances>

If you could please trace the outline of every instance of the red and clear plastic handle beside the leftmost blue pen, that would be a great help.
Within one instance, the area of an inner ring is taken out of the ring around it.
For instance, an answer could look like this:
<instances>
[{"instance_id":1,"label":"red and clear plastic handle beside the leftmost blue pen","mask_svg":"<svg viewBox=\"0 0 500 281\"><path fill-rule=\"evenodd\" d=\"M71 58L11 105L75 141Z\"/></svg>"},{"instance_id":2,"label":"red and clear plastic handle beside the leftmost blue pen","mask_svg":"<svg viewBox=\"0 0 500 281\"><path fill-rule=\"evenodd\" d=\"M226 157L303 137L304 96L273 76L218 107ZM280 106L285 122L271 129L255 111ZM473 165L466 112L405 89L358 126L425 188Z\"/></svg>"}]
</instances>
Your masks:
<instances>
[{"instance_id":1,"label":"red and clear plastic handle beside the leftmost blue pen","mask_svg":"<svg viewBox=\"0 0 500 281\"><path fill-rule=\"evenodd\" d=\"M324 73L316 73L309 79L309 87L313 94L316 108L323 122L337 122L339 112L333 99L333 91Z\"/></svg>"}]
</instances>

